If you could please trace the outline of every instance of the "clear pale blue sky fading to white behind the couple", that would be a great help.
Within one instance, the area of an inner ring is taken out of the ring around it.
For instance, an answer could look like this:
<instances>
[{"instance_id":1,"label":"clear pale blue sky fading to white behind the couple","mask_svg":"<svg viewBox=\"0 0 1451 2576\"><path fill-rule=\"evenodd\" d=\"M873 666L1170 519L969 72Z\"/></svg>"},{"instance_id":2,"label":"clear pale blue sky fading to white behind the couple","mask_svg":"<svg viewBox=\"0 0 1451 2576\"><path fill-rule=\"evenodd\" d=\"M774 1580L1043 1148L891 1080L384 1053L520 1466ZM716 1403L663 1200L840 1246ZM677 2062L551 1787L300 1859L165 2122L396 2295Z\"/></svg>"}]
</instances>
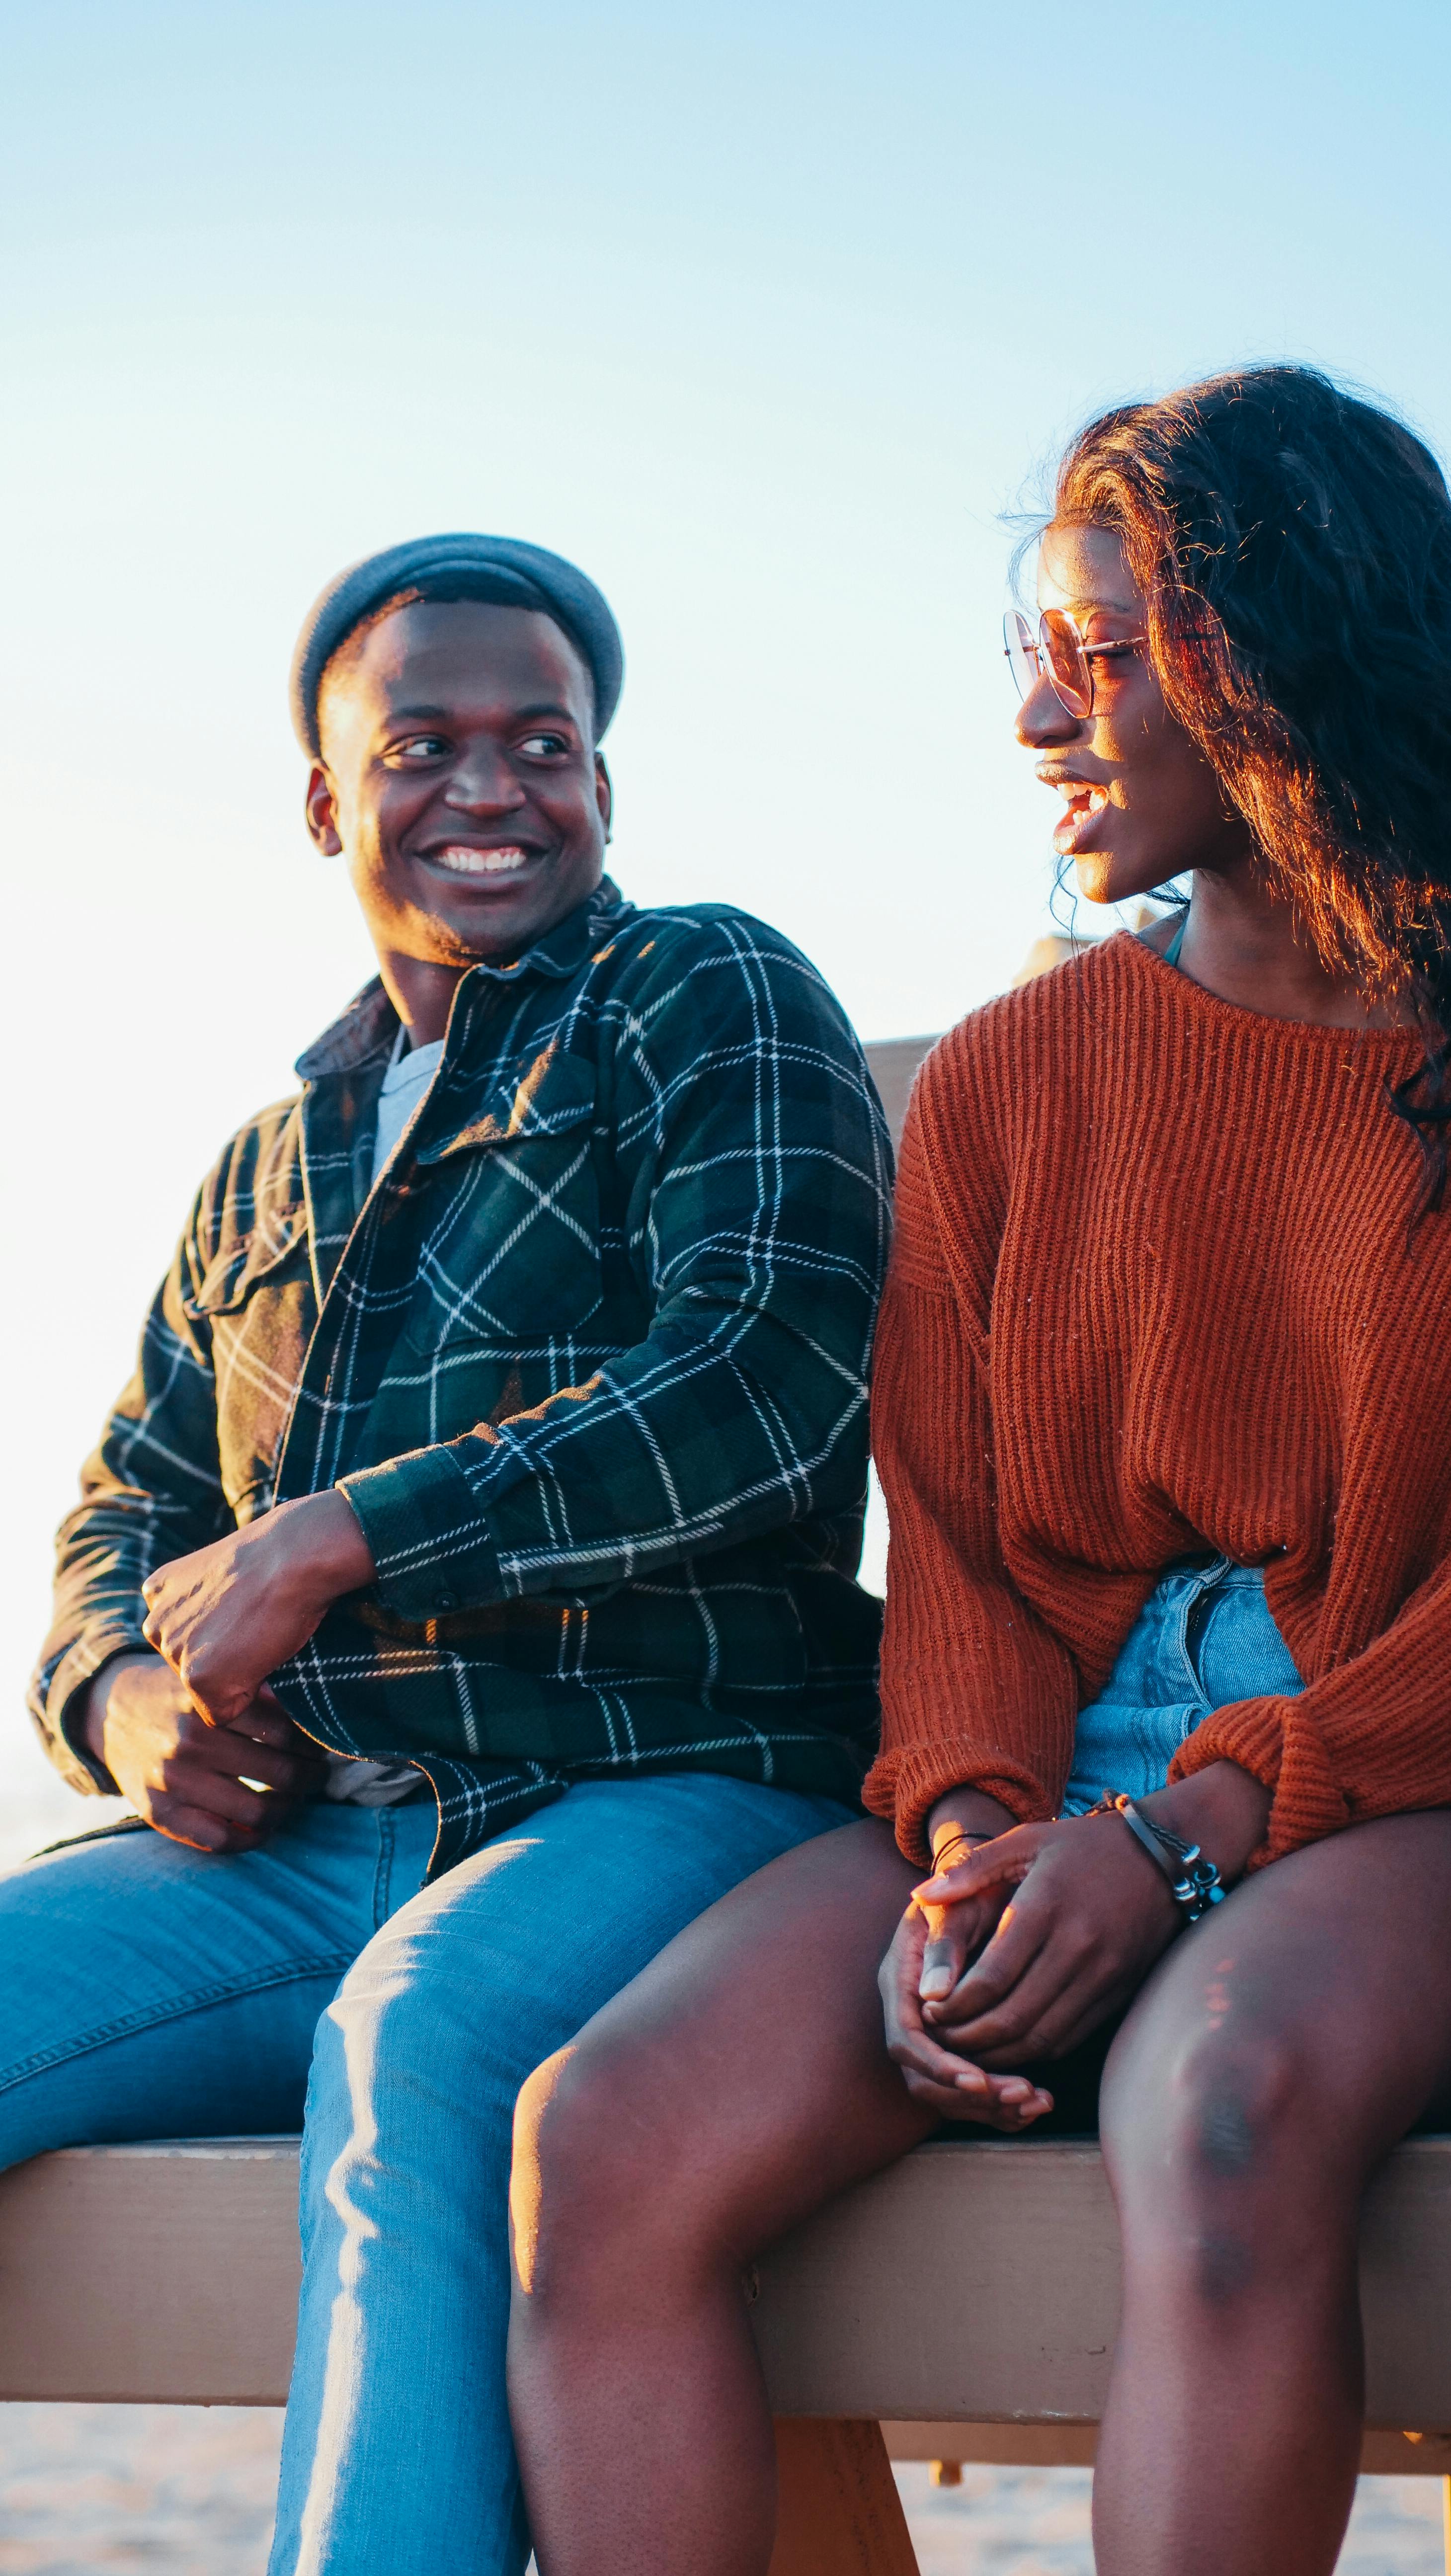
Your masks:
<instances>
[{"instance_id":1,"label":"clear pale blue sky fading to white behind the couple","mask_svg":"<svg viewBox=\"0 0 1451 2576\"><path fill-rule=\"evenodd\" d=\"M322 582L575 556L626 891L943 1028L1046 927L1000 616L1072 428L1299 358L1446 456L1448 57L1430 0L10 0L0 1850L88 1821L21 1695L155 1278L371 969L286 721Z\"/></svg>"}]
</instances>

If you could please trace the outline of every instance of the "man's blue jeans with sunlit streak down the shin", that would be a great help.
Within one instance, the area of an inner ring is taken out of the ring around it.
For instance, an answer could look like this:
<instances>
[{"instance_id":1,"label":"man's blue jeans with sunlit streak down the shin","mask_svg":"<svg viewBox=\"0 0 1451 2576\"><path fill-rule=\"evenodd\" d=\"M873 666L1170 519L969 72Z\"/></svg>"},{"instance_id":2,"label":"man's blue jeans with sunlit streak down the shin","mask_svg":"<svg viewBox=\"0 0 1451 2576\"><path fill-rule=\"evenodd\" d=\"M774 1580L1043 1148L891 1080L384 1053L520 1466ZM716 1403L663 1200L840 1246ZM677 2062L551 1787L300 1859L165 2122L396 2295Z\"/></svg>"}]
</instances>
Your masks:
<instances>
[{"instance_id":1,"label":"man's blue jeans with sunlit streak down the shin","mask_svg":"<svg viewBox=\"0 0 1451 2576\"><path fill-rule=\"evenodd\" d=\"M716 1896L845 1821L673 1772L580 1783L430 1888L433 1801L307 1806L229 1860L106 1834L0 1878L0 2164L304 2125L271 2576L518 2576L518 2087Z\"/></svg>"}]
</instances>

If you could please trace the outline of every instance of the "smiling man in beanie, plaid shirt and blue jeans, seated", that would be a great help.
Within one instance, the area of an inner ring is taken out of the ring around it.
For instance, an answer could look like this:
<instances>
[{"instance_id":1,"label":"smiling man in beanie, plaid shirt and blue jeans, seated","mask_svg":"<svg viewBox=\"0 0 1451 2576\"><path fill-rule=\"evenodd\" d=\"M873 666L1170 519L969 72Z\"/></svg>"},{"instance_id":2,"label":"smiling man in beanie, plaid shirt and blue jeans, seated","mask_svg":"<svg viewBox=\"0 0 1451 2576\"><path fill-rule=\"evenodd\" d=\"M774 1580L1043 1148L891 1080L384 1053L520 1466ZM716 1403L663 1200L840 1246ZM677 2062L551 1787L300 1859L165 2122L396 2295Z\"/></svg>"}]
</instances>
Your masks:
<instances>
[{"instance_id":1,"label":"smiling man in beanie, plaid shirt and blue jeans, seated","mask_svg":"<svg viewBox=\"0 0 1451 2576\"><path fill-rule=\"evenodd\" d=\"M871 1747L884 1128L786 940L601 873L619 680L533 546L317 603L379 981L204 1182L59 1543L34 1710L139 1821L0 1883L0 2161L309 2087L273 2576L523 2566L518 2087Z\"/></svg>"}]
</instances>

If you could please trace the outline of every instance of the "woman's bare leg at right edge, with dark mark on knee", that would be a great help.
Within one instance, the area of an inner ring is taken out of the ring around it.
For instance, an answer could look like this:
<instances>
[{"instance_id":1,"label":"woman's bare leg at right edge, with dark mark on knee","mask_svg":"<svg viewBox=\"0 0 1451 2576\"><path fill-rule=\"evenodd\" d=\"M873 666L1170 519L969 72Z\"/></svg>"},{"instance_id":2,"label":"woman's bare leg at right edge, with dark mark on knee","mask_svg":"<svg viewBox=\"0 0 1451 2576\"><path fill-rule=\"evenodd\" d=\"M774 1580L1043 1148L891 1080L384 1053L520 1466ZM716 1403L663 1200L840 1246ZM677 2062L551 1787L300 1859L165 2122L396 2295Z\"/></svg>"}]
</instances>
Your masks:
<instances>
[{"instance_id":1,"label":"woman's bare leg at right edge, with dark mark on knee","mask_svg":"<svg viewBox=\"0 0 1451 2576\"><path fill-rule=\"evenodd\" d=\"M1100 2576L1330 2576L1361 2442L1356 2218L1451 2074L1451 1811L1276 1862L1113 2043L1124 2321Z\"/></svg>"}]
</instances>

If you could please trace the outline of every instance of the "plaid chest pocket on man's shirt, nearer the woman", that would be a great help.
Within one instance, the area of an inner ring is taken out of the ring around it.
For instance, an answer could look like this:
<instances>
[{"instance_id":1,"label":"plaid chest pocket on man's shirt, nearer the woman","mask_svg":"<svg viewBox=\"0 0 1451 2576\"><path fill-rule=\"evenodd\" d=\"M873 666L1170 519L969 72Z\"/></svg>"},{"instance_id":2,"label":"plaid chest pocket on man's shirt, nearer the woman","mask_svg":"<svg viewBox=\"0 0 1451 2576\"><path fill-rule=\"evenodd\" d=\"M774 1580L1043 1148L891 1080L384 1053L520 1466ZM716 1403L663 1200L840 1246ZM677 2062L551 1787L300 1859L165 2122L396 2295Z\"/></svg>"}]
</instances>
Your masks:
<instances>
[{"instance_id":1,"label":"plaid chest pocket on man's shirt, nearer the woman","mask_svg":"<svg viewBox=\"0 0 1451 2576\"><path fill-rule=\"evenodd\" d=\"M418 1167L436 1211L405 1321L412 1350L523 1358L580 1334L603 1298L593 1064L536 1059Z\"/></svg>"}]
</instances>

